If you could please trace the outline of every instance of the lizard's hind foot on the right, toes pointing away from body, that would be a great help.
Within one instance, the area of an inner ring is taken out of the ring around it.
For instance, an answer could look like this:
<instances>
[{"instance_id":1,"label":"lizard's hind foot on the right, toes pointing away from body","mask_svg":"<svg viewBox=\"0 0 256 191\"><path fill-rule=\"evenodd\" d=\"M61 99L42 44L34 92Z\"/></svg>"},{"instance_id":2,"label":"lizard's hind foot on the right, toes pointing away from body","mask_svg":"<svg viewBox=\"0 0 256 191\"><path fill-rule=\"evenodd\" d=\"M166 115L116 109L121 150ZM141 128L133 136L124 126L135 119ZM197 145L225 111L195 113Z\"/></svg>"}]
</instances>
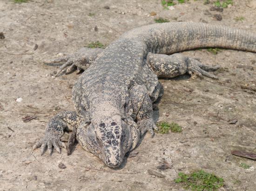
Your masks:
<instances>
[{"instance_id":1,"label":"lizard's hind foot on the right, toes pointing away from body","mask_svg":"<svg viewBox=\"0 0 256 191\"><path fill-rule=\"evenodd\" d=\"M194 76L194 75L199 77L207 76L210 78L218 79L217 76L209 73L208 71L215 71L215 70L218 70L219 68L220 66L218 65L208 66L208 65L202 64L196 59L189 58L188 60L188 70L189 70L188 72L191 76Z\"/></svg>"}]
</instances>

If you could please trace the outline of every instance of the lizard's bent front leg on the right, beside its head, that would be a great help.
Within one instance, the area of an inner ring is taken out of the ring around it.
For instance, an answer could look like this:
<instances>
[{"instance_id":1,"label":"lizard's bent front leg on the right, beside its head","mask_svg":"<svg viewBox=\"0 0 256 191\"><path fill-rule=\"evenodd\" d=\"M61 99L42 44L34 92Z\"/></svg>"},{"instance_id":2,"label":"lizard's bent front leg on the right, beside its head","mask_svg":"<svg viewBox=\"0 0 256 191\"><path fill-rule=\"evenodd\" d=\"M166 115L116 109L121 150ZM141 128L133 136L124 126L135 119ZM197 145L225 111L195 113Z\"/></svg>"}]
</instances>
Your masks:
<instances>
[{"instance_id":1,"label":"lizard's bent front leg on the right, beside its head","mask_svg":"<svg viewBox=\"0 0 256 191\"><path fill-rule=\"evenodd\" d=\"M134 86L130 90L129 96L132 103L133 115L135 115L141 135L149 131L153 137L154 129L157 130L157 127L153 120L152 101L148 96L146 87L143 85Z\"/></svg>"}]
</instances>

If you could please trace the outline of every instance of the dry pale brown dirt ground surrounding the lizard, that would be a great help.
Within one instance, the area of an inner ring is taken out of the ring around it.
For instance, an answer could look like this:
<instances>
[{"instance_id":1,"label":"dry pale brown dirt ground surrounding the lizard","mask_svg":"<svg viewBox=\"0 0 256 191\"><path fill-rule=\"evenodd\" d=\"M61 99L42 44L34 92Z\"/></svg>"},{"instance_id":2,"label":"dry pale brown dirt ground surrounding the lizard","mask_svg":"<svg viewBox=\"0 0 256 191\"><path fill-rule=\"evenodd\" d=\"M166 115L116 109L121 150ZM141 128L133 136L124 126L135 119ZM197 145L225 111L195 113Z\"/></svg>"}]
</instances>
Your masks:
<instances>
[{"instance_id":1,"label":"dry pale brown dirt ground surrounding the lizard","mask_svg":"<svg viewBox=\"0 0 256 191\"><path fill-rule=\"evenodd\" d=\"M155 111L158 121L175 121L183 131L156 134L153 139L146 134L135 149L138 153L119 170L104 166L78 144L70 156L64 149L52 156L41 156L40 149L32 151L51 117L74 110L71 88L79 76L53 79L57 67L41 59L74 52L96 40L108 45L121 33L152 24L158 17L172 22L204 20L256 32L255 0L234 0L223 13L209 8L202 0L176 5L174 10L164 10L160 0L31 0L21 4L1 0L0 32L5 38L0 39L0 190L178 191L182 190L174 182L178 172L203 169L224 178L222 190L254 191L255 161L230 153L233 149L256 152L256 54L250 52L183 52L203 63L221 65L222 70L215 72L220 80L186 75L161 79L164 96ZM152 11L155 16L150 16ZM222 20L214 19L214 14L221 14ZM243 22L235 20L241 16ZM16 102L19 97L22 101ZM23 117L33 115L37 118L23 122ZM235 119L236 124L229 124ZM163 161L171 167L159 171L156 167ZM59 168L60 163L67 168ZM252 167L246 170L240 163ZM165 177L150 175L148 170Z\"/></svg>"}]
</instances>

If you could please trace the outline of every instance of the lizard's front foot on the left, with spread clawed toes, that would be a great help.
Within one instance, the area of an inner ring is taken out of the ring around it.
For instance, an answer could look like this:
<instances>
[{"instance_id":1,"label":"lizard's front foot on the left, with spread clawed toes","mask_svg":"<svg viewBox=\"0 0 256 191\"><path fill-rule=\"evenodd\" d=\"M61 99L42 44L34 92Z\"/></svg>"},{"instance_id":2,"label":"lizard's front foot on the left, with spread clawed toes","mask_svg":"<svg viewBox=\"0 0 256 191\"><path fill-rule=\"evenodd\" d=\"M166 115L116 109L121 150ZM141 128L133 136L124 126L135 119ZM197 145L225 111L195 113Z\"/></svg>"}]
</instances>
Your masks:
<instances>
[{"instance_id":1,"label":"lizard's front foot on the left, with spread clawed toes","mask_svg":"<svg viewBox=\"0 0 256 191\"><path fill-rule=\"evenodd\" d=\"M53 137L52 134L49 134L49 136L47 136L47 134L46 134L46 136L43 139L39 140L33 146L33 150L35 150L38 147L41 147L41 155L43 155L45 152L46 146L47 146L48 153L50 155L52 153L53 146L55 147L55 149L57 150L58 153L61 153L60 146L67 148L65 143L62 142L60 139L58 139L57 137Z\"/></svg>"}]
</instances>

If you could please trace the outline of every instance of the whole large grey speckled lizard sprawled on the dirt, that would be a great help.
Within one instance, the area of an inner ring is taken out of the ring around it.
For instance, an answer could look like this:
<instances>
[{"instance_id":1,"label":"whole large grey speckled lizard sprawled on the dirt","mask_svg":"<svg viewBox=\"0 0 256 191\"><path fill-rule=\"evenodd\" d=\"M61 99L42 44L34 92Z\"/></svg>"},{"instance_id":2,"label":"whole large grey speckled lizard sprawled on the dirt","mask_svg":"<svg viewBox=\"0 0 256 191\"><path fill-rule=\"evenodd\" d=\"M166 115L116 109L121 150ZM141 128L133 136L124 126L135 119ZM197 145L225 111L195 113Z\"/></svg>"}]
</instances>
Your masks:
<instances>
[{"instance_id":1,"label":"whole large grey speckled lizard sprawled on the dirt","mask_svg":"<svg viewBox=\"0 0 256 191\"><path fill-rule=\"evenodd\" d=\"M256 34L202 23L164 23L141 26L124 33L104 50L83 48L74 55L45 61L63 64L56 75L85 71L74 84L75 111L64 111L47 124L45 136L34 145L52 146L60 153L64 130L75 130L76 139L107 166L118 167L146 131L153 136L152 103L161 91L157 77L185 73L217 78L208 66L179 51L222 47L256 52ZM175 53L175 54L172 54ZM172 55L170 55L172 54ZM168 56L170 55L170 56Z\"/></svg>"}]
</instances>

